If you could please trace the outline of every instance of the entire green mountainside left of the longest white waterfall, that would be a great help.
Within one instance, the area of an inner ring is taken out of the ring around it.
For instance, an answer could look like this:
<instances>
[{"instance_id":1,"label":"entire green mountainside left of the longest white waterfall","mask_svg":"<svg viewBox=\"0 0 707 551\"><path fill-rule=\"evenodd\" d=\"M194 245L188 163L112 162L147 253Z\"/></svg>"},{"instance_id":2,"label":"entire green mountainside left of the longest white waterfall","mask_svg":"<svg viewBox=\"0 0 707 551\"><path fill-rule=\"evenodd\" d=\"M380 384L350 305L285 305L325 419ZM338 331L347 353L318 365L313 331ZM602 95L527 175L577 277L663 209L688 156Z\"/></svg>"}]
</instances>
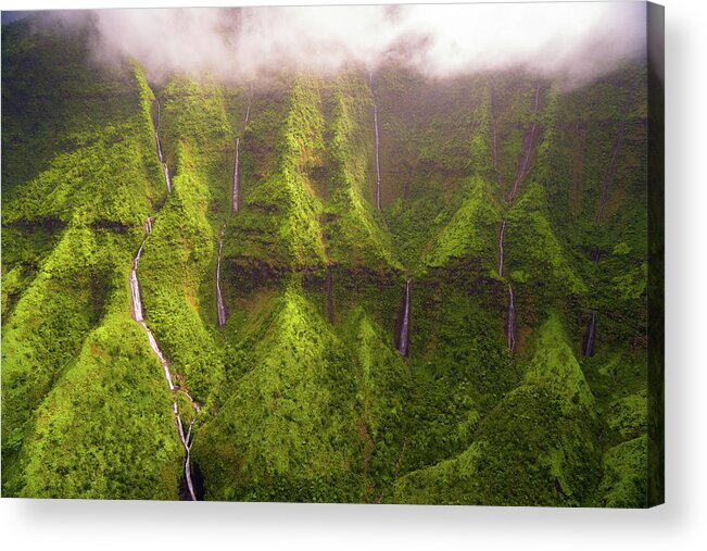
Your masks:
<instances>
[{"instance_id":1,"label":"entire green mountainside left of the longest white waterfall","mask_svg":"<svg viewBox=\"0 0 707 551\"><path fill-rule=\"evenodd\" d=\"M10 51L4 45L3 55ZM48 93L47 105L53 95L70 93L74 101L62 96L66 107L38 130L43 140L52 133L61 139L53 156L33 168L36 175L15 168L14 153L9 162L3 156L3 292L10 300L2 335L3 491L165 498L176 490L180 450L166 385L144 334L129 318L127 292L152 179L161 174L152 160L149 100L139 71L135 78L126 68L73 78L73 64L84 64L86 52L72 40L49 53L53 46L40 35L28 40L13 71L27 59L42 62L8 86L13 109L27 99L17 91L27 79ZM40 74L46 55L60 58L49 83ZM27 120L5 113L3 130L24 132ZM157 381L162 393L155 395ZM122 438L129 434L149 437L126 444L137 440Z\"/></svg>"}]
</instances>

